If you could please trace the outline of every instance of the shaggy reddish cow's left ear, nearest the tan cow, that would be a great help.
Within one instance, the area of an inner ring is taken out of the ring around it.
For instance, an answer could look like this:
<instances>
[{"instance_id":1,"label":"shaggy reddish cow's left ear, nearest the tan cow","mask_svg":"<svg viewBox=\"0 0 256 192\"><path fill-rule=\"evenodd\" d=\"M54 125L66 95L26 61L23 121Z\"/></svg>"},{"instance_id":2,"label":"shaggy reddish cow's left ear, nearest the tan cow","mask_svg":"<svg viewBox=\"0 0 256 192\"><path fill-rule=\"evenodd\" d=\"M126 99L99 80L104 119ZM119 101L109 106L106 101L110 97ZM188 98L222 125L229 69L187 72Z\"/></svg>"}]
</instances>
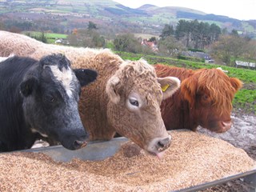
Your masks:
<instances>
[{"instance_id":1,"label":"shaggy reddish cow's left ear, nearest the tan cow","mask_svg":"<svg viewBox=\"0 0 256 192\"><path fill-rule=\"evenodd\" d=\"M194 106L195 96L197 91L198 80L190 77L182 81L181 94L186 101L190 103L190 107Z\"/></svg>"}]
</instances>

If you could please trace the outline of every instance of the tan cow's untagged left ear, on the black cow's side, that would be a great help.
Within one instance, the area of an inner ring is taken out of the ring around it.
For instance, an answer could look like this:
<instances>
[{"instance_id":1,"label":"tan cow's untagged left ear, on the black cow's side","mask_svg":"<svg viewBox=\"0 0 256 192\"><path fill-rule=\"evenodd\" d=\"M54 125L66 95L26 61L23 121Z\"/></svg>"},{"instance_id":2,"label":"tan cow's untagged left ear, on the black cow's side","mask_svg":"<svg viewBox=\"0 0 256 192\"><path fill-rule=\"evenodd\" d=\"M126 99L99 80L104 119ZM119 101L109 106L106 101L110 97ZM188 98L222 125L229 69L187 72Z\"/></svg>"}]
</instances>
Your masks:
<instances>
[{"instance_id":1,"label":"tan cow's untagged left ear, on the black cow's side","mask_svg":"<svg viewBox=\"0 0 256 192\"><path fill-rule=\"evenodd\" d=\"M115 104L120 101L120 95L117 90L119 82L120 79L118 77L112 77L106 82L106 94L109 96L110 101Z\"/></svg>"}]
</instances>

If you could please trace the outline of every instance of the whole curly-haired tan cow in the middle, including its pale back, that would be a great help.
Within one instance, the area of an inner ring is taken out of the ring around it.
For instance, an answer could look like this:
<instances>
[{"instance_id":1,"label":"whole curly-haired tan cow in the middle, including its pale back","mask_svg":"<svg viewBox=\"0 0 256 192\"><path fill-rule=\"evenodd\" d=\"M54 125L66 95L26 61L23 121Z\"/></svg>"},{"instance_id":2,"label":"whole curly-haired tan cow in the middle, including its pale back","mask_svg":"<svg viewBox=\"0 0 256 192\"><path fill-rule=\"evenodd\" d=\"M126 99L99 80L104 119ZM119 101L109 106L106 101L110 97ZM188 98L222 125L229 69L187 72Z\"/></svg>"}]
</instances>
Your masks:
<instances>
[{"instance_id":1,"label":"whole curly-haired tan cow in the middle, including its pale back","mask_svg":"<svg viewBox=\"0 0 256 192\"><path fill-rule=\"evenodd\" d=\"M46 54L62 53L70 59L73 68L98 71L97 80L82 90L79 106L82 122L92 140L109 140L118 132L152 154L159 154L170 145L160 105L162 99L178 90L178 78L157 78L154 67L146 61L123 61L110 50L47 45L21 34L0 31L2 35L5 38L0 38L0 56L16 54L38 59ZM160 84L170 87L162 92Z\"/></svg>"}]
</instances>

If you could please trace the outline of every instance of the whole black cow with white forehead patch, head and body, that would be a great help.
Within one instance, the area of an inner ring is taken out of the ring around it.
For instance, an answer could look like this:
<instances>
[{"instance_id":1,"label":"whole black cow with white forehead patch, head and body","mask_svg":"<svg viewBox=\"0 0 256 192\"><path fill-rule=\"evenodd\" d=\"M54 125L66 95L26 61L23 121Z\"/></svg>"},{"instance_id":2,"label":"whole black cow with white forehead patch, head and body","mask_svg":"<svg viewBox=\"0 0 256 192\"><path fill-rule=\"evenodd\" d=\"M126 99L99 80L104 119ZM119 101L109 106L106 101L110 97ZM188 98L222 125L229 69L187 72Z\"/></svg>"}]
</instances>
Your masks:
<instances>
[{"instance_id":1,"label":"whole black cow with white forehead patch, head and body","mask_svg":"<svg viewBox=\"0 0 256 192\"><path fill-rule=\"evenodd\" d=\"M42 136L69 150L86 146L78 100L81 86L96 77L94 70L71 70L62 54L1 62L0 151L28 149Z\"/></svg>"}]
</instances>

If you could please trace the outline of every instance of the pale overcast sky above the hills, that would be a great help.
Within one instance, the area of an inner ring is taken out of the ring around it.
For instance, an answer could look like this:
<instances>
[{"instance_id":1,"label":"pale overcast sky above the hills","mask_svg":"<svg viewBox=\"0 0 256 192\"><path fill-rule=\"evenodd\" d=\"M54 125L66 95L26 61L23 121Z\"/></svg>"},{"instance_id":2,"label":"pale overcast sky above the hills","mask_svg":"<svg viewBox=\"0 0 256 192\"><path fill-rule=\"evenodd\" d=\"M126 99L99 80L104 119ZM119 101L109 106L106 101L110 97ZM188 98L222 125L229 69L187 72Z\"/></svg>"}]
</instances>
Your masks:
<instances>
[{"instance_id":1,"label":"pale overcast sky above the hills","mask_svg":"<svg viewBox=\"0 0 256 192\"><path fill-rule=\"evenodd\" d=\"M114 0L123 6L138 8L145 4L154 6L182 6L201 10L206 14L225 15L240 20L256 19L256 0Z\"/></svg>"}]
</instances>

